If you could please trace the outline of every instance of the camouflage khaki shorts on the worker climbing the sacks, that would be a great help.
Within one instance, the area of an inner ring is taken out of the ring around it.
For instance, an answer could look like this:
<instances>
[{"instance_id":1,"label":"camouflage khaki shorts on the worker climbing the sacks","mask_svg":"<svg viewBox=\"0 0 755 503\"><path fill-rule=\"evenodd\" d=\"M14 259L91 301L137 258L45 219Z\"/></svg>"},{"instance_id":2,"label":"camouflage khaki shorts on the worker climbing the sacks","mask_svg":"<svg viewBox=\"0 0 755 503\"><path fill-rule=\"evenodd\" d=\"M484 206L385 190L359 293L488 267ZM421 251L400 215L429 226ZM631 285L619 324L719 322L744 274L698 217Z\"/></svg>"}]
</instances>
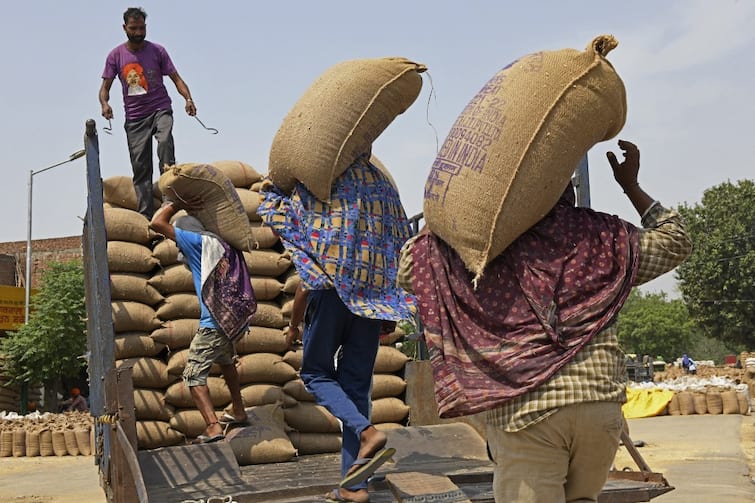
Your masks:
<instances>
[{"instance_id":1,"label":"camouflage khaki shorts on the worker climbing the sacks","mask_svg":"<svg viewBox=\"0 0 755 503\"><path fill-rule=\"evenodd\" d=\"M214 328L200 327L189 346L183 379L189 387L204 386L213 363L233 365L235 360L236 349L228 337Z\"/></svg>"}]
</instances>

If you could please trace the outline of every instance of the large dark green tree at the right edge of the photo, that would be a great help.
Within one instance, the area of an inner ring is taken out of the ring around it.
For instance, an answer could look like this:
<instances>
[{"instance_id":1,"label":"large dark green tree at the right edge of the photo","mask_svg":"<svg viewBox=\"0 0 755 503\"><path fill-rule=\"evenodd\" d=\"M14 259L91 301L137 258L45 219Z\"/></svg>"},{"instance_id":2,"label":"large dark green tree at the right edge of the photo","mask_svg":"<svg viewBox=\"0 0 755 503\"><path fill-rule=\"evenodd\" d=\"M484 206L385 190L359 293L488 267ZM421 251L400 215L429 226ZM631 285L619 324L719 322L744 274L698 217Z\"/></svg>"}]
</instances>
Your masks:
<instances>
[{"instance_id":1,"label":"large dark green tree at the right edge of the photo","mask_svg":"<svg viewBox=\"0 0 755 503\"><path fill-rule=\"evenodd\" d=\"M692 255L677 269L687 307L705 334L755 347L755 182L722 183L683 205Z\"/></svg>"}]
</instances>

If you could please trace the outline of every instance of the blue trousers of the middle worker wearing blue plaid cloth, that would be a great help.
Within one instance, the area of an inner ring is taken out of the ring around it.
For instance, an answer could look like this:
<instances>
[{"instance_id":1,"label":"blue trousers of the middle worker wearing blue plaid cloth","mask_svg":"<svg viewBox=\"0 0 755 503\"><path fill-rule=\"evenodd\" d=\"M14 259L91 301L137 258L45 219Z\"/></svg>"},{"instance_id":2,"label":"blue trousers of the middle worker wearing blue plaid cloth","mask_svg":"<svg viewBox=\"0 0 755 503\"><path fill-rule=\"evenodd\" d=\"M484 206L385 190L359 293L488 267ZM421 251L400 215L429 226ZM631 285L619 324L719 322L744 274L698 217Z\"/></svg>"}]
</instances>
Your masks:
<instances>
[{"instance_id":1,"label":"blue trousers of the middle worker wearing blue plaid cloth","mask_svg":"<svg viewBox=\"0 0 755 503\"><path fill-rule=\"evenodd\" d=\"M356 460L360 435L371 424L372 373L381 325L380 320L349 311L335 289L309 292L301 378L317 403L342 423L341 475ZM366 482L350 489L364 487Z\"/></svg>"}]
</instances>

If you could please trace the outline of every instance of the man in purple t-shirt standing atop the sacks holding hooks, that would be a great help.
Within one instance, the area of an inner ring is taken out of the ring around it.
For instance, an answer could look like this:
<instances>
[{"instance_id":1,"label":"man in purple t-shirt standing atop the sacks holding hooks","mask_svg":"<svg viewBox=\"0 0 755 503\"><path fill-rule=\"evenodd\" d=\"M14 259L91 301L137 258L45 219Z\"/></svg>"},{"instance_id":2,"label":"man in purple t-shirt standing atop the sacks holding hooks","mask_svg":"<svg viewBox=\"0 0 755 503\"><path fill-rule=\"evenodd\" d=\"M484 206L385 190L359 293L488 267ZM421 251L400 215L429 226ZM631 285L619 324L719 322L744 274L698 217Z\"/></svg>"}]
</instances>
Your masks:
<instances>
[{"instance_id":1,"label":"man in purple t-shirt standing atop the sacks holding hooks","mask_svg":"<svg viewBox=\"0 0 755 503\"><path fill-rule=\"evenodd\" d=\"M194 116L197 108L191 92L183 81L168 52L161 45L145 40L147 13L137 7L129 7L123 13L123 31L128 41L107 56L102 72L100 105L102 116L113 118L110 108L110 87L117 76L123 89L123 105L126 111L126 139L134 172L137 211L152 218L152 136L157 140L157 158L160 171L176 163L173 144L173 110L170 96L163 84L167 75L176 85L178 93L186 99L186 113Z\"/></svg>"}]
</instances>

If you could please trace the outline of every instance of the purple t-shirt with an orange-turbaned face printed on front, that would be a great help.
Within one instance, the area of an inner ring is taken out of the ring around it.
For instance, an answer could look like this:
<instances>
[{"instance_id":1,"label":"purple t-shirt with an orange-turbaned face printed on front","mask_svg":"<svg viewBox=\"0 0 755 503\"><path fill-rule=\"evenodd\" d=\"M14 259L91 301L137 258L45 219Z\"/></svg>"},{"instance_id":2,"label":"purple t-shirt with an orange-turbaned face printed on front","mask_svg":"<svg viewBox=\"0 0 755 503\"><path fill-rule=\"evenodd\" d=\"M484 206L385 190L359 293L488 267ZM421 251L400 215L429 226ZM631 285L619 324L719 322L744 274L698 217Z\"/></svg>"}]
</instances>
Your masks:
<instances>
[{"instance_id":1,"label":"purple t-shirt with an orange-turbaned face printed on front","mask_svg":"<svg viewBox=\"0 0 755 503\"><path fill-rule=\"evenodd\" d=\"M163 76L177 73L168 51L154 42L144 42L138 52L131 52L121 44L107 55L103 79L118 76L123 88L123 108L126 120L136 120L158 110L170 110L170 96L163 84Z\"/></svg>"}]
</instances>

